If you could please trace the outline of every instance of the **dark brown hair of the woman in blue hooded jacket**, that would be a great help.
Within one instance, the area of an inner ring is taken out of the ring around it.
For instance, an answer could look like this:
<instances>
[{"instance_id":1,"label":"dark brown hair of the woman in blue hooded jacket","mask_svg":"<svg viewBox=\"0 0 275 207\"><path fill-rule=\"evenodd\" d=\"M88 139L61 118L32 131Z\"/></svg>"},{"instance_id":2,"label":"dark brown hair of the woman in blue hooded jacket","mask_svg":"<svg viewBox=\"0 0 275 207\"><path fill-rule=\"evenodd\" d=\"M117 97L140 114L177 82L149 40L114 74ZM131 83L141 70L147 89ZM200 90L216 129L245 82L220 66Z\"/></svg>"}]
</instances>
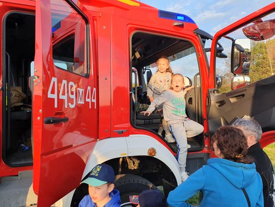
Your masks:
<instances>
[{"instance_id":1,"label":"dark brown hair of the woman in blue hooded jacket","mask_svg":"<svg viewBox=\"0 0 275 207\"><path fill-rule=\"evenodd\" d=\"M220 127L211 138L211 150L214 150L215 141L224 159L244 164L253 163L253 159L246 155L248 142L242 130L230 126Z\"/></svg>"}]
</instances>

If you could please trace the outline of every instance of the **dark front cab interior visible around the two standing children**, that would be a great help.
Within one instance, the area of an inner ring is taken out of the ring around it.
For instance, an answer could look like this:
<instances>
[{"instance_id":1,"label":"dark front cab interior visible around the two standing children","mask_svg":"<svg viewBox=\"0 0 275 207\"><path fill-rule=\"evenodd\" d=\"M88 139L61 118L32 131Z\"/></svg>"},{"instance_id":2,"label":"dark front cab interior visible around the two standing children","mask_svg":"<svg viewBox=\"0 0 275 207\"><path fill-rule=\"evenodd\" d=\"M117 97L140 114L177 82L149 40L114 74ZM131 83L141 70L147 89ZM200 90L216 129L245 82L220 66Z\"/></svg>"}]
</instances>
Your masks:
<instances>
[{"instance_id":1,"label":"dark front cab interior visible around the two standing children","mask_svg":"<svg viewBox=\"0 0 275 207\"><path fill-rule=\"evenodd\" d=\"M136 110L136 100L141 104L150 104L150 100L147 97L147 84L152 73L156 70L156 61L159 57L167 56L173 70L172 63L179 62L181 58L188 58L188 56L193 55L194 61L197 61L195 47L186 40L143 32L134 33L130 45L130 88L132 88L130 92L132 94L130 105L132 107L132 125L135 128L146 129L157 134L161 122L159 113L151 113L150 116L144 116L142 113L139 113L139 110ZM189 73L192 74L190 77L185 74L186 67L188 66L178 63L177 70L173 70L173 73L180 73L184 76L185 87L195 86L195 88L189 90L185 95L186 114L190 119L203 125L199 67L193 73ZM162 135L158 136L166 141L164 139L164 131ZM188 152L200 151L204 147L203 134L187 138L187 142L191 145ZM168 145L174 152L177 152L176 143L168 143Z\"/></svg>"}]
</instances>

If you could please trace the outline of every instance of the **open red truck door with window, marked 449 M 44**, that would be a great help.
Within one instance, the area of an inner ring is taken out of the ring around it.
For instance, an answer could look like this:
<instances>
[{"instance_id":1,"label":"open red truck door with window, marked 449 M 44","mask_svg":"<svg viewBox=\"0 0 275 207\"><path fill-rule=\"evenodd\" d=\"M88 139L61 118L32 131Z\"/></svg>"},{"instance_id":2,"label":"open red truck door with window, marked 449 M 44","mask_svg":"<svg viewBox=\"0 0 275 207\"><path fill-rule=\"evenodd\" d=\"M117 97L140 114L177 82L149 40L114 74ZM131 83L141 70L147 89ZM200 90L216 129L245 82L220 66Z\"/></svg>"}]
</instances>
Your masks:
<instances>
[{"instance_id":1,"label":"open red truck door with window, marked 449 M 44","mask_svg":"<svg viewBox=\"0 0 275 207\"><path fill-rule=\"evenodd\" d=\"M31 84L33 186L39 206L50 206L79 186L97 139L93 22L87 14L75 1L36 1Z\"/></svg>"}]
</instances>

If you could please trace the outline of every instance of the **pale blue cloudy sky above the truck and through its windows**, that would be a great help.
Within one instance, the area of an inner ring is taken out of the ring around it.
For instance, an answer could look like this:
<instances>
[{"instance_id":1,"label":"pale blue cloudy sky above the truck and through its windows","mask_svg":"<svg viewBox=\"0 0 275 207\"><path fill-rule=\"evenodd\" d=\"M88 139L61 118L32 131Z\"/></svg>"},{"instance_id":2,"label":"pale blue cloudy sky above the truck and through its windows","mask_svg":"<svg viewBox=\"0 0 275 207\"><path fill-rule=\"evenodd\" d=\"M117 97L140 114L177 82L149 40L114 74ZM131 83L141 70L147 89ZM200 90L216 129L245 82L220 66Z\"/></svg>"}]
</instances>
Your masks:
<instances>
[{"instance_id":1,"label":"pale blue cloudy sky above the truck and through its windows","mask_svg":"<svg viewBox=\"0 0 275 207\"><path fill-rule=\"evenodd\" d=\"M231 23L273 3L271 0L140 0L140 2L160 10L185 14L193 19L200 29L212 36ZM244 38L241 31L235 31L233 34L230 35L234 39ZM219 42L223 45L225 54L231 52L232 41L224 38ZM206 46L210 47L210 44L207 44ZM208 61L209 56L207 55ZM228 70L224 62L224 58L217 58L216 67L219 71ZM174 73L182 73L182 66L188 65L184 68L184 75L191 79L199 71L194 55L188 55L179 61L171 62L170 65ZM153 73L155 70L156 68L152 68Z\"/></svg>"}]
</instances>

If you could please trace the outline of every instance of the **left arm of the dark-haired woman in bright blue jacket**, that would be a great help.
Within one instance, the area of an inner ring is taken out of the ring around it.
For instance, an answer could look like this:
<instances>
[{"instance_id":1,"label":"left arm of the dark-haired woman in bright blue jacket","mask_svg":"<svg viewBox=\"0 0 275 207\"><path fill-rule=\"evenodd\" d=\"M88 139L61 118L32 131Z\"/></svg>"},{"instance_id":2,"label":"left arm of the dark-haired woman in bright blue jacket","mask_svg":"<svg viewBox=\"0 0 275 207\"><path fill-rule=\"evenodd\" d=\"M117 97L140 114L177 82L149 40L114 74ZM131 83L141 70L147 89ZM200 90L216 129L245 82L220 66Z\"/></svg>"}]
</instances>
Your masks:
<instances>
[{"instance_id":1,"label":"left arm of the dark-haired woman in bright blue jacket","mask_svg":"<svg viewBox=\"0 0 275 207\"><path fill-rule=\"evenodd\" d=\"M167 202L170 207L189 207L189 203L186 200L195 195L199 190L203 188L205 184L205 170L200 168L189 178L181 183L175 190L171 191L168 195Z\"/></svg>"}]
</instances>

